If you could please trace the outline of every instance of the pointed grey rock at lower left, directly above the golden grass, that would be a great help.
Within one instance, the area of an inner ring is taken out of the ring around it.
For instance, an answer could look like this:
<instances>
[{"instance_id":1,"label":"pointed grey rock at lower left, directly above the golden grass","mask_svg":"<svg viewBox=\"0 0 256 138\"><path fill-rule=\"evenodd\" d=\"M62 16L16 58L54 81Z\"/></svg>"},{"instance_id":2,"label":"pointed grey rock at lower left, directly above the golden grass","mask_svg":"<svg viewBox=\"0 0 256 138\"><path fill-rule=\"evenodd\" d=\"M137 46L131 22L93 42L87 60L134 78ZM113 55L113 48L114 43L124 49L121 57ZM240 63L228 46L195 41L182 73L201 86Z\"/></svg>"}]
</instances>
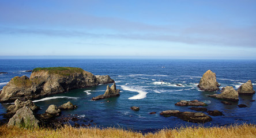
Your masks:
<instances>
[{"instance_id":1,"label":"pointed grey rock at lower left, directly above the golden grass","mask_svg":"<svg viewBox=\"0 0 256 138\"><path fill-rule=\"evenodd\" d=\"M39 126L39 120L36 119L31 108L24 106L21 109L18 109L16 114L12 118L10 118L7 126L17 126L17 127L25 127L32 128Z\"/></svg>"}]
</instances>

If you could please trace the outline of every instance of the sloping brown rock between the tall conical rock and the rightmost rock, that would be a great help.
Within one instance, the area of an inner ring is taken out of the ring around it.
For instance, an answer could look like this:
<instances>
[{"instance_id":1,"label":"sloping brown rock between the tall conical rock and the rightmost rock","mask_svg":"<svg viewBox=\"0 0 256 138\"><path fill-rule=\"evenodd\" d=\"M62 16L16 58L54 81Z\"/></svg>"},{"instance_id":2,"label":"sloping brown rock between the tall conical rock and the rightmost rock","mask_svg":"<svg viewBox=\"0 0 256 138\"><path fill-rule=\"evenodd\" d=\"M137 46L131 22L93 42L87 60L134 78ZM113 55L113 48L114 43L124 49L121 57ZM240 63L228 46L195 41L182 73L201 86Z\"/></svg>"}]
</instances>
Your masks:
<instances>
[{"instance_id":1,"label":"sloping brown rock between the tall conical rock and the rightmost rock","mask_svg":"<svg viewBox=\"0 0 256 138\"><path fill-rule=\"evenodd\" d=\"M209 96L219 98L219 99L228 99L231 101L238 101L238 92L232 86L224 87L221 94L213 94Z\"/></svg>"}]
</instances>

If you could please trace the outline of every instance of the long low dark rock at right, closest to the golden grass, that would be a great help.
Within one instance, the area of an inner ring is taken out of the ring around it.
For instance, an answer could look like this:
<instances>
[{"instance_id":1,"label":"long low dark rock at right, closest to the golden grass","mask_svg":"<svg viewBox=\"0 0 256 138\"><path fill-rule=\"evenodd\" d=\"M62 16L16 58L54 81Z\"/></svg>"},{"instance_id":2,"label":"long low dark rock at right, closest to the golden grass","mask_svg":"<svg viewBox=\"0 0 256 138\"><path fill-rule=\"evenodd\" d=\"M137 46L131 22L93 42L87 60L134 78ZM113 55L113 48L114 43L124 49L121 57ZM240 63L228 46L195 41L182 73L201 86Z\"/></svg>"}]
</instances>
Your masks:
<instances>
[{"instance_id":1,"label":"long low dark rock at right, closest to the golden grass","mask_svg":"<svg viewBox=\"0 0 256 138\"><path fill-rule=\"evenodd\" d=\"M166 110L160 113L164 117L175 116L189 122L209 122L212 118L200 112L179 112L179 110Z\"/></svg>"}]
</instances>

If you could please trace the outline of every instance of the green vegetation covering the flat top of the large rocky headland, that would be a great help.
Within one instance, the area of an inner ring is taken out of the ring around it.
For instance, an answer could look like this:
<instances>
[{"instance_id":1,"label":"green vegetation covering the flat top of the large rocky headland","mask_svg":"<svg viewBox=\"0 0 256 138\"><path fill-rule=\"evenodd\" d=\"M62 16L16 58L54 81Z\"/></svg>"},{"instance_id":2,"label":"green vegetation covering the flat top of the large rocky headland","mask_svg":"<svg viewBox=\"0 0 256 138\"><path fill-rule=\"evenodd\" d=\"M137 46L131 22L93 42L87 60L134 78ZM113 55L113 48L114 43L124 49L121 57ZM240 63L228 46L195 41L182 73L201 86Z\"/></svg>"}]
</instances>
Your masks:
<instances>
[{"instance_id":1,"label":"green vegetation covering the flat top of the large rocky headland","mask_svg":"<svg viewBox=\"0 0 256 138\"><path fill-rule=\"evenodd\" d=\"M47 67L47 68L35 68L32 72L48 71L50 74L59 74L63 76L69 76L74 73L82 73L84 70L77 67Z\"/></svg>"}]
</instances>

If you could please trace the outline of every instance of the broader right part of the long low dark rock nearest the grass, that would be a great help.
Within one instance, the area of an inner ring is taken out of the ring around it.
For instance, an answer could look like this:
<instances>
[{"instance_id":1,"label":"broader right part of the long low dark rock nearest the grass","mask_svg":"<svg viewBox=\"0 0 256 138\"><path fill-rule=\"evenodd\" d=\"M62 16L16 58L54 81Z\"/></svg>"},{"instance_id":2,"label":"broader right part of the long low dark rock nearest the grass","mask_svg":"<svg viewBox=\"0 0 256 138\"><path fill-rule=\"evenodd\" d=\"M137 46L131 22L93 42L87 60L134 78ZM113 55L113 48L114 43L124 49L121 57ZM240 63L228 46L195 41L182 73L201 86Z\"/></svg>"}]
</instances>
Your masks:
<instances>
[{"instance_id":1,"label":"broader right part of the long low dark rock nearest the grass","mask_svg":"<svg viewBox=\"0 0 256 138\"><path fill-rule=\"evenodd\" d=\"M200 112L180 112L178 118L189 122L209 122L212 118Z\"/></svg>"}]
</instances>

